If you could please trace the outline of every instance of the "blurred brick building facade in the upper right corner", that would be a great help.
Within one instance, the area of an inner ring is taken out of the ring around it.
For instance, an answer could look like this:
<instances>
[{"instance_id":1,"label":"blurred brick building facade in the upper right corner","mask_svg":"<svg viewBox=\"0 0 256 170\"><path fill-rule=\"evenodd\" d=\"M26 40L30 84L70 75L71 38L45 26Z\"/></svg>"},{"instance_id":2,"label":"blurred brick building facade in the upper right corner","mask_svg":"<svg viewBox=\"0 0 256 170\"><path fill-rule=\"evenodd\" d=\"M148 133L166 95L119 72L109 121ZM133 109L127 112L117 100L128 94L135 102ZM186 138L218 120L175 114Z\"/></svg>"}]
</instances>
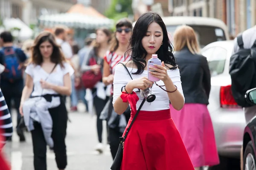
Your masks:
<instances>
[{"instance_id":1,"label":"blurred brick building facade in the upper right corner","mask_svg":"<svg viewBox=\"0 0 256 170\"><path fill-rule=\"evenodd\" d=\"M218 18L227 25L231 37L256 25L256 0L168 1L170 16Z\"/></svg>"}]
</instances>

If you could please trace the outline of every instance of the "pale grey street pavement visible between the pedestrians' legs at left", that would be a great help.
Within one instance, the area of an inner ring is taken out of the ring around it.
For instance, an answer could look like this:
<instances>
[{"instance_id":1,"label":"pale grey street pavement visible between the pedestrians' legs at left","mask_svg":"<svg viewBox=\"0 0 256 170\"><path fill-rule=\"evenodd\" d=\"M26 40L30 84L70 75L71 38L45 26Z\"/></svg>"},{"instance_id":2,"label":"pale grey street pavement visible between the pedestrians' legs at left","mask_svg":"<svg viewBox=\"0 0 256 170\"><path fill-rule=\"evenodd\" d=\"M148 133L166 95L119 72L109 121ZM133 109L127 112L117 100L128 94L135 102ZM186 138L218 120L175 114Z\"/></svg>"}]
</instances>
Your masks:
<instances>
[{"instance_id":1,"label":"pale grey street pavement visible between the pedestrians' legs at left","mask_svg":"<svg viewBox=\"0 0 256 170\"><path fill-rule=\"evenodd\" d=\"M99 154L94 150L98 140L96 131L96 116L85 113L83 104L79 104L78 112L70 112L67 127L67 159L66 170L110 170L112 163L111 153L106 144L106 123L103 125L103 142L105 150ZM13 123L16 127L16 112L13 110ZM26 142L20 143L16 131L12 142L5 145L4 152L12 164L12 170L34 170L33 150L30 133L26 132ZM47 151L47 170L58 170L55 155Z\"/></svg>"}]
</instances>

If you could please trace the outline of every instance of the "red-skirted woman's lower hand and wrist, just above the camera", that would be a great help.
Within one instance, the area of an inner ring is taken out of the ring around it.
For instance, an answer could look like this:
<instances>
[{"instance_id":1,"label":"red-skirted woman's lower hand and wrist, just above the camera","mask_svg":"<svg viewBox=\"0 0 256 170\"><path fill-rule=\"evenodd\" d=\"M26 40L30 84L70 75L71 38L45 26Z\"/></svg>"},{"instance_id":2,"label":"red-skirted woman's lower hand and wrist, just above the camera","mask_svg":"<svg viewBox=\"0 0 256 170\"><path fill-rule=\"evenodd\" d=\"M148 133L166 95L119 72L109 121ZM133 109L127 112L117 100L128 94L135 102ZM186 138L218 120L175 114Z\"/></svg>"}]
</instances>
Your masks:
<instances>
[{"instance_id":1,"label":"red-skirted woman's lower hand and wrist, just above the camera","mask_svg":"<svg viewBox=\"0 0 256 170\"><path fill-rule=\"evenodd\" d=\"M148 77L141 77L139 79L133 79L130 82L128 82L127 85L125 86L125 89L126 90L129 89L129 91L133 91L134 88L145 90L146 88L151 88L153 84L154 82L149 81Z\"/></svg>"}]
</instances>

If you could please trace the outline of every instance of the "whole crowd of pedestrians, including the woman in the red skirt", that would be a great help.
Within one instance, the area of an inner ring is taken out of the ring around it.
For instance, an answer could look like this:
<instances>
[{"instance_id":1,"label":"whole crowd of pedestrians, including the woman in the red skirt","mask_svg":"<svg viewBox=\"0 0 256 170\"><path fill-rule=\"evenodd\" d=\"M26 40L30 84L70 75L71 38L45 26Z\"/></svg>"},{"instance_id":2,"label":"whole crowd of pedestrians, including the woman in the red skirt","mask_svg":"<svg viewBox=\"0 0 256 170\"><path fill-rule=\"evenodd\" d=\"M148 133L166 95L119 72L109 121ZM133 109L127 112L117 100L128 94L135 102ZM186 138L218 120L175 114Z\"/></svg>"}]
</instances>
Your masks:
<instances>
[{"instance_id":1,"label":"whole crowd of pedestrians, including the woman in the red skirt","mask_svg":"<svg viewBox=\"0 0 256 170\"><path fill-rule=\"evenodd\" d=\"M125 137L122 170L199 170L219 163L207 110L209 66L191 27L175 31L175 48L163 20L152 12L140 16L134 28L122 18L113 33L97 29L96 38L86 38L81 49L67 40L64 27L40 33L22 48L15 47L8 31L0 34L0 42L5 67L0 88L10 113L14 100L20 142L26 141L20 122L32 133L35 170L47 169L47 145L58 169L67 166L67 96L70 111L78 111L79 100L87 112L94 106L99 153L103 121L113 160L119 156L119 137ZM162 63L148 68L152 54ZM160 80L151 81L148 74ZM153 102L141 95L148 89L154 92Z\"/></svg>"}]
</instances>

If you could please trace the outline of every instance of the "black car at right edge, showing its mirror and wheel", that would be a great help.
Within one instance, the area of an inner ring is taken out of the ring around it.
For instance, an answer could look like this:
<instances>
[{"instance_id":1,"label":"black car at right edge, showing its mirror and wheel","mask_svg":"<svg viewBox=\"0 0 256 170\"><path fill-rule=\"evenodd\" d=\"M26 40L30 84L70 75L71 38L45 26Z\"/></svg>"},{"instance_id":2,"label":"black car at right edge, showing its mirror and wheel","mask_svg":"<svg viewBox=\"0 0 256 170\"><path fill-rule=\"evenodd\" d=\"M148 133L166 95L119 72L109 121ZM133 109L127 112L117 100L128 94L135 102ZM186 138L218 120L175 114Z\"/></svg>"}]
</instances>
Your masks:
<instances>
[{"instance_id":1,"label":"black car at right edge, showing its mirror and wheel","mask_svg":"<svg viewBox=\"0 0 256 170\"><path fill-rule=\"evenodd\" d=\"M246 92L245 98L248 103L256 105L256 88ZM244 128L243 155L244 170L256 170L256 116L247 123Z\"/></svg>"}]
</instances>

